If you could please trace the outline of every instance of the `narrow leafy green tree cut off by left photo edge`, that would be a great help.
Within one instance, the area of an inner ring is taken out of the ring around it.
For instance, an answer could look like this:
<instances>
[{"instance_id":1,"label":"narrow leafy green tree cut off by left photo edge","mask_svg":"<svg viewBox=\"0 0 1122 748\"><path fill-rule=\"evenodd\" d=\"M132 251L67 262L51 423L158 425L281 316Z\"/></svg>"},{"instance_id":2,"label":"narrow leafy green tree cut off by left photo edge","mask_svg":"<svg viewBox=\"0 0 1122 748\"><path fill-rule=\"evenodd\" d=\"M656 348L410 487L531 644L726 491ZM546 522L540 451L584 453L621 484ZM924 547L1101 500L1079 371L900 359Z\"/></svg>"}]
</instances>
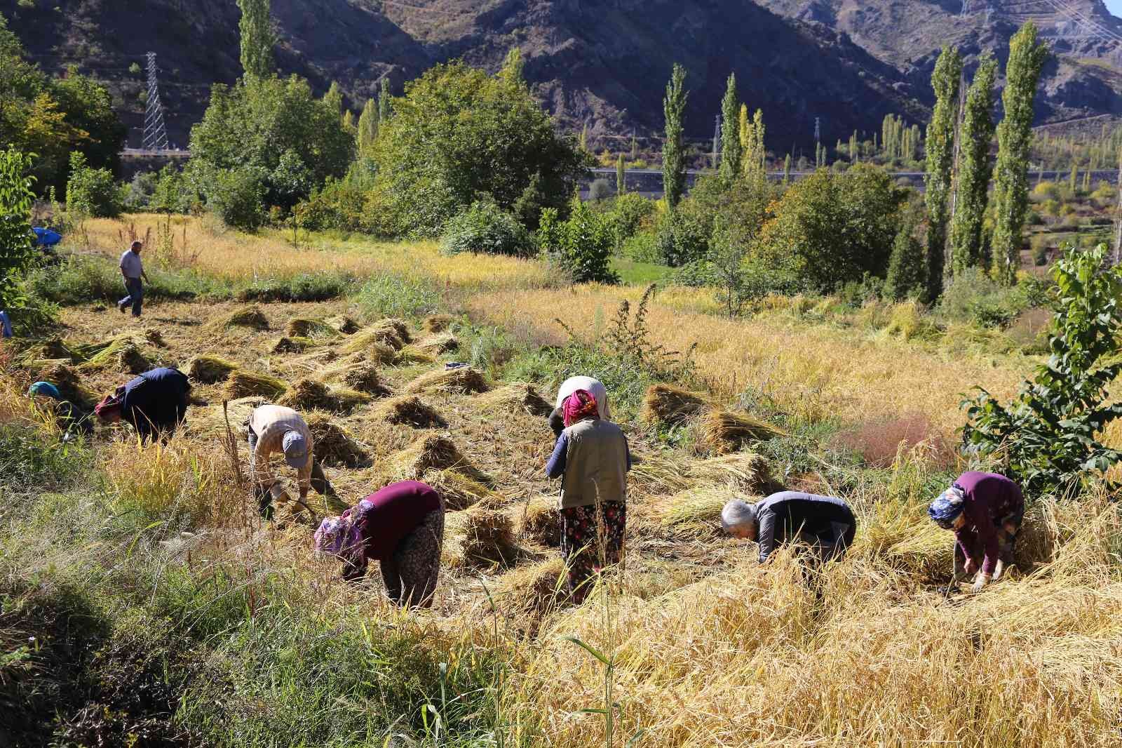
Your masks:
<instances>
[{"instance_id":1,"label":"narrow leafy green tree cut off by left photo edge","mask_svg":"<svg viewBox=\"0 0 1122 748\"><path fill-rule=\"evenodd\" d=\"M0 309L16 305L17 280L35 259L30 171L30 156L0 150Z\"/></svg>"}]
</instances>

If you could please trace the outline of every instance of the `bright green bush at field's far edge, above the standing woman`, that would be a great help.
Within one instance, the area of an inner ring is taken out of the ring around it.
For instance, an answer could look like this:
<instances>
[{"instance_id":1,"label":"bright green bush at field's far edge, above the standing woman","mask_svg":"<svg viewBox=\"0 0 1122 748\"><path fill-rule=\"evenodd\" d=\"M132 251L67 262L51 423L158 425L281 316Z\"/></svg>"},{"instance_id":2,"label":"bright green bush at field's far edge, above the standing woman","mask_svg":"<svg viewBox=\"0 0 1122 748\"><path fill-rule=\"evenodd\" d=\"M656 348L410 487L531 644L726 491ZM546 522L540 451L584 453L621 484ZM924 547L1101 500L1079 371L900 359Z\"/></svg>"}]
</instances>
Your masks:
<instances>
[{"instance_id":1,"label":"bright green bush at field's far edge, above the standing woman","mask_svg":"<svg viewBox=\"0 0 1122 748\"><path fill-rule=\"evenodd\" d=\"M619 282L610 266L611 221L581 202L580 195L573 195L568 220L561 220L554 208L542 211L537 244L573 283Z\"/></svg>"}]
</instances>

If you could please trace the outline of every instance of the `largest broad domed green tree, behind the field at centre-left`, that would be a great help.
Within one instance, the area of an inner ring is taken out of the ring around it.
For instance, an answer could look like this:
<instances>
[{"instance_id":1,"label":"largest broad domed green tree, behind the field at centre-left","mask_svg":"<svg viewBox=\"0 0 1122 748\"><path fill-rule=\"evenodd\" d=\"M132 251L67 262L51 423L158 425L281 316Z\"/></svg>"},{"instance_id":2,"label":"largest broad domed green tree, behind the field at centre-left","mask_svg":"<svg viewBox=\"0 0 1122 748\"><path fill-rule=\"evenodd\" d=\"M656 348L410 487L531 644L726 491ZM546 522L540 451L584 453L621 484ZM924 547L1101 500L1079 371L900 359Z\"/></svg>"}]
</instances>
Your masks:
<instances>
[{"instance_id":1,"label":"largest broad domed green tree, behind the field at centre-left","mask_svg":"<svg viewBox=\"0 0 1122 748\"><path fill-rule=\"evenodd\" d=\"M375 230L435 236L482 195L535 227L542 208L564 209L587 155L555 131L521 81L462 63L436 65L406 85L383 121L368 198Z\"/></svg>"}]
</instances>

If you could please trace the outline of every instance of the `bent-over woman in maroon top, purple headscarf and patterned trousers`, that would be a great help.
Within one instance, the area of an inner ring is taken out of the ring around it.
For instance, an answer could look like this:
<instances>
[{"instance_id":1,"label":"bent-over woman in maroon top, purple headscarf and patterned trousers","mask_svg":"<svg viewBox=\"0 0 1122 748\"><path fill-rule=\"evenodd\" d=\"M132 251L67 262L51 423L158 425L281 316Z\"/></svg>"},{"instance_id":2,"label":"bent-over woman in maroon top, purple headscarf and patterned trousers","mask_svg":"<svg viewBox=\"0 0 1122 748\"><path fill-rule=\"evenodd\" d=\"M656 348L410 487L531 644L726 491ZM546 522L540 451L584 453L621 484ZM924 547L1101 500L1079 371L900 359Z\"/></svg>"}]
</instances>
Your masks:
<instances>
[{"instance_id":1,"label":"bent-over woman in maroon top, purple headscarf and patterned trousers","mask_svg":"<svg viewBox=\"0 0 1122 748\"><path fill-rule=\"evenodd\" d=\"M444 501L424 483L401 481L331 517L315 531L315 550L343 560L343 578L357 582L367 564L381 565L394 603L427 608L440 575Z\"/></svg>"}]
</instances>

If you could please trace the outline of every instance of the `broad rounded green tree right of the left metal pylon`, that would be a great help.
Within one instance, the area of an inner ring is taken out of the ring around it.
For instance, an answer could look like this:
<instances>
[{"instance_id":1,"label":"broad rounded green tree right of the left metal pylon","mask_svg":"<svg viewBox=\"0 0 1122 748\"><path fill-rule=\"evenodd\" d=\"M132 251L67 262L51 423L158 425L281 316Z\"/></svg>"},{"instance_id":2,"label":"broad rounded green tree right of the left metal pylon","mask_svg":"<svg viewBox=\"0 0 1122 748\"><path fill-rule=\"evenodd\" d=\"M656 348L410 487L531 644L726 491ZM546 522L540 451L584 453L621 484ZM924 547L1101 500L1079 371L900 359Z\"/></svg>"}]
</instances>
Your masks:
<instances>
[{"instance_id":1,"label":"broad rounded green tree right of the left metal pylon","mask_svg":"<svg viewBox=\"0 0 1122 748\"><path fill-rule=\"evenodd\" d=\"M191 129L193 162L211 170L252 170L267 204L284 209L329 176L346 174L353 154L355 138L339 111L296 76L217 84L202 121Z\"/></svg>"}]
</instances>

